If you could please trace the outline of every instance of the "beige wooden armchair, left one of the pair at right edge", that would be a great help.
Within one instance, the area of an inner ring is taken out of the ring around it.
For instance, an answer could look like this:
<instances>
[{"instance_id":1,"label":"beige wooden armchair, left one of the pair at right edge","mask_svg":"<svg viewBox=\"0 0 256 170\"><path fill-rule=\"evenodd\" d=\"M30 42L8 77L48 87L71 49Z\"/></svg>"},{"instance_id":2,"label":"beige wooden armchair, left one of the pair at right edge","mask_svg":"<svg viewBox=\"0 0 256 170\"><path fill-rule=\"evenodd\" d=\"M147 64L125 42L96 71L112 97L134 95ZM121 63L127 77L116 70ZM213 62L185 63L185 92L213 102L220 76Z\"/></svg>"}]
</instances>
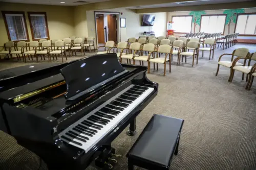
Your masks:
<instances>
[{"instance_id":1,"label":"beige wooden armchair, left one of the pair at right edge","mask_svg":"<svg viewBox=\"0 0 256 170\"><path fill-rule=\"evenodd\" d=\"M225 55L230 55L231 60L230 61L221 61L222 57ZM245 57L249 57L249 55L250 55L250 53L249 53L248 48L238 48L237 50L234 50L232 54L222 54L219 58L216 76L218 75L220 65L231 68L234 57L244 57L245 58ZM242 66L242 65L243 65L242 63L236 62L236 66ZM233 66L235 66L235 65L233 65ZM231 72L231 70L230 70L230 72Z\"/></svg>"}]
</instances>

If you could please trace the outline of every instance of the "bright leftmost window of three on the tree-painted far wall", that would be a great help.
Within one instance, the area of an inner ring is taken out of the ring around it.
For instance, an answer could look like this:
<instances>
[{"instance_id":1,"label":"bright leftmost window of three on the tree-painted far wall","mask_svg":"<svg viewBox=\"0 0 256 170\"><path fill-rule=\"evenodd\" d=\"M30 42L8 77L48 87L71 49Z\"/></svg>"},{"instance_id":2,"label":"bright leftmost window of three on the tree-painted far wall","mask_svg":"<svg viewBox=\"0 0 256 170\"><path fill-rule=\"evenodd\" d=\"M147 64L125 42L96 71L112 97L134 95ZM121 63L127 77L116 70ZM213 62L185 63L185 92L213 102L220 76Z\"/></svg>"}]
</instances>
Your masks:
<instances>
[{"instance_id":1,"label":"bright leftmost window of three on the tree-painted far wall","mask_svg":"<svg viewBox=\"0 0 256 170\"><path fill-rule=\"evenodd\" d=\"M190 33L192 27L192 15L173 16L173 30L175 33Z\"/></svg>"}]
</instances>

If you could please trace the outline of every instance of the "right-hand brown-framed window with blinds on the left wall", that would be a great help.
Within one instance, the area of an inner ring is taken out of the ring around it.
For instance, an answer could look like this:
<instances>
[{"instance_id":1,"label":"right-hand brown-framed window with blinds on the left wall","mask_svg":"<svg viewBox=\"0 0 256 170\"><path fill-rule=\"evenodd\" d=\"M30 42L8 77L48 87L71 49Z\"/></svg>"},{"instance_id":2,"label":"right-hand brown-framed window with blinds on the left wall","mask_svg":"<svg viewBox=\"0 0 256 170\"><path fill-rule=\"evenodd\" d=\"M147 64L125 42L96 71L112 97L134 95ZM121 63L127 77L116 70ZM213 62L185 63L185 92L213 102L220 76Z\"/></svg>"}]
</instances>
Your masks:
<instances>
[{"instance_id":1,"label":"right-hand brown-framed window with blinds on the left wall","mask_svg":"<svg viewBox=\"0 0 256 170\"><path fill-rule=\"evenodd\" d=\"M49 30L45 12L28 12L33 40L49 39Z\"/></svg>"}]
</instances>

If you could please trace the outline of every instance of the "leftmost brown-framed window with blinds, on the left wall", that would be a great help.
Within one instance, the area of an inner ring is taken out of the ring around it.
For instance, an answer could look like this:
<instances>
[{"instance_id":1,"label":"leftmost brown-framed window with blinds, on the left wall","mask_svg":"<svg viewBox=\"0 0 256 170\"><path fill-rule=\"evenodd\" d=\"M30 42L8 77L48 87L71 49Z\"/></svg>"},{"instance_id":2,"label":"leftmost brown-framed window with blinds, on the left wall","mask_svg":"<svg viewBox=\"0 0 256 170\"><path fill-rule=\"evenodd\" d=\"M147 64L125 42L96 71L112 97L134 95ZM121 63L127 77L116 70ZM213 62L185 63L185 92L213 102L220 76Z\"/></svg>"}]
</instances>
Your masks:
<instances>
[{"instance_id":1,"label":"leftmost brown-framed window with blinds, on the left wall","mask_svg":"<svg viewBox=\"0 0 256 170\"><path fill-rule=\"evenodd\" d=\"M9 41L28 40L28 31L24 12L2 11Z\"/></svg>"}]
</instances>

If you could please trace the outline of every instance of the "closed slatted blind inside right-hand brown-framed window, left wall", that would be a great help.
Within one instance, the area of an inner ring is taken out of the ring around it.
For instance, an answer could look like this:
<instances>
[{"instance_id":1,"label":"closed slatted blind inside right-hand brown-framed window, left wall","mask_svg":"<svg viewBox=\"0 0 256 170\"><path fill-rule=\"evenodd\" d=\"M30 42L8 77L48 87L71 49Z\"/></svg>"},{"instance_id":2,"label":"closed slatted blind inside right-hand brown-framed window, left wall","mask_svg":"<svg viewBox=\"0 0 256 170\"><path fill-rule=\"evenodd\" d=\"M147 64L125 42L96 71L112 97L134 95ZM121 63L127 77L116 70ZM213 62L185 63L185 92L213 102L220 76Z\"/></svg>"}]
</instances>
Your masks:
<instances>
[{"instance_id":1,"label":"closed slatted blind inside right-hand brown-framed window, left wall","mask_svg":"<svg viewBox=\"0 0 256 170\"><path fill-rule=\"evenodd\" d=\"M44 14L30 14L30 22L34 39L48 38L46 16Z\"/></svg>"}]
</instances>

